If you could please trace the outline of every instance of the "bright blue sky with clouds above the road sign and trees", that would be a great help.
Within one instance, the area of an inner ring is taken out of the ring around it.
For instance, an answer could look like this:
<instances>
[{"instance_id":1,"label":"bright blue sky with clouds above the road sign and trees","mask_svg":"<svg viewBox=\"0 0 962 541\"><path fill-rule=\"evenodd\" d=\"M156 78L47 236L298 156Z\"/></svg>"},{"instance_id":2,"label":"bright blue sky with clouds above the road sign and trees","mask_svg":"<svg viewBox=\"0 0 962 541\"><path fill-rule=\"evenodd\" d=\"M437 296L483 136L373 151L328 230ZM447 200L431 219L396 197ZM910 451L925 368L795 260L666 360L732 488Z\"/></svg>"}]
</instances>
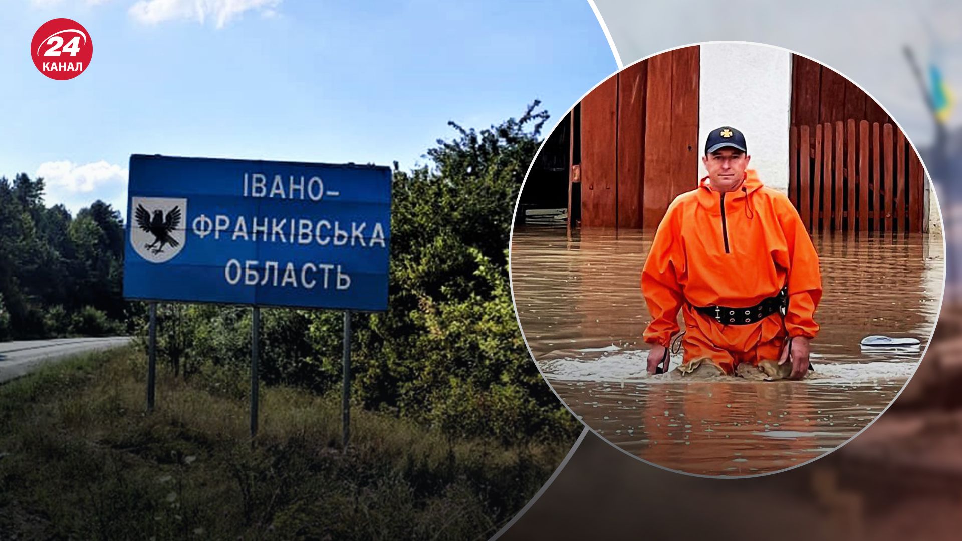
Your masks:
<instances>
[{"instance_id":1,"label":"bright blue sky with clouds above the road sign and trees","mask_svg":"<svg viewBox=\"0 0 962 541\"><path fill-rule=\"evenodd\" d=\"M69 81L29 55L69 17L93 42ZM0 17L0 175L47 203L123 210L132 153L422 163L448 120L487 127L539 98L560 118L617 68L584 0L10 0Z\"/></svg>"}]
</instances>

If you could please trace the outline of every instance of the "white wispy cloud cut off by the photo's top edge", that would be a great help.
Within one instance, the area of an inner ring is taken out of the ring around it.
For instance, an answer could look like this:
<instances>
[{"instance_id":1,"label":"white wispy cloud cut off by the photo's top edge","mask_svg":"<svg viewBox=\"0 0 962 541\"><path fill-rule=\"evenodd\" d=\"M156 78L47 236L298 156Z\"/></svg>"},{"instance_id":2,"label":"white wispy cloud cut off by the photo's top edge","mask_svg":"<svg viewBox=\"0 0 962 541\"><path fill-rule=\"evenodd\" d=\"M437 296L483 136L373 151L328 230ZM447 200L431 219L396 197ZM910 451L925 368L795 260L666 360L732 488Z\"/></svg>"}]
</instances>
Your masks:
<instances>
[{"instance_id":1,"label":"white wispy cloud cut off by the photo's top edge","mask_svg":"<svg viewBox=\"0 0 962 541\"><path fill-rule=\"evenodd\" d=\"M281 0L139 0L128 13L139 22L157 24L176 19L193 19L204 24L208 18L223 28L241 13L255 10L266 16L276 14Z\"/></svg>"}]
</instances>

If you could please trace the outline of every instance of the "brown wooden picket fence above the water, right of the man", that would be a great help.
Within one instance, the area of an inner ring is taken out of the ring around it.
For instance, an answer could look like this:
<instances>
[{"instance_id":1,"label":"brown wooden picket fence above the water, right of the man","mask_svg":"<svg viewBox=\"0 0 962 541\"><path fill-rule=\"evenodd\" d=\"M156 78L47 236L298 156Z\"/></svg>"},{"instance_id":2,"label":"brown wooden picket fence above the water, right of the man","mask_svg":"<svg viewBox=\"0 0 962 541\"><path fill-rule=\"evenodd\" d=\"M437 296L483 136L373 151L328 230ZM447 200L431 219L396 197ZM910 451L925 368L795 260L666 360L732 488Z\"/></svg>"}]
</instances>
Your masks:
<instances>
[{"instance_id":1,"label":"brown wooden picket fence above the water, right of the man","mask_svg":"<svg viewBox=\"0 0 962 541\"><path fill-rule=\"evenodd\" d=\"M789 198L810 232L921 232L924 170L897 126L792 126Z\"/></svg>"}]
</instances>

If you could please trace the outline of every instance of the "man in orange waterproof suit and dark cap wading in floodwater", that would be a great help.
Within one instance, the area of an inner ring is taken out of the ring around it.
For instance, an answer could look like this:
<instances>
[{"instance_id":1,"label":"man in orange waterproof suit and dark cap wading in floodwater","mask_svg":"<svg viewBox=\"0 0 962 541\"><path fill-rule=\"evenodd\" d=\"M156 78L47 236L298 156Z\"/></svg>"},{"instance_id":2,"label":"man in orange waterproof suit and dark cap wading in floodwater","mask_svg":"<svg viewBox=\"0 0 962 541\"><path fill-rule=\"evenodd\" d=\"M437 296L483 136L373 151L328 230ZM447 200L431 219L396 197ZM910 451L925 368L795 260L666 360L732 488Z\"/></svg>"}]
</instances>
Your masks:
<instances>
[{"instance_id":1,"label":"man in orange waterproof suit and dark cap wading in floodwater","mask_svg":"<svg viewBox=\"0 0 962 541\"><path fill-rule=\"evenodd\" d=\"M797 379L810 368L819 257L788 197L763 186L749 159L741 132L712 130L702 158L708 176L676 197L658 226L642 270L651 374L668 372L679 309L682 374L702 365L736 374L741 364L777 360L791 362Z\"/></svg>"}]
</instances>

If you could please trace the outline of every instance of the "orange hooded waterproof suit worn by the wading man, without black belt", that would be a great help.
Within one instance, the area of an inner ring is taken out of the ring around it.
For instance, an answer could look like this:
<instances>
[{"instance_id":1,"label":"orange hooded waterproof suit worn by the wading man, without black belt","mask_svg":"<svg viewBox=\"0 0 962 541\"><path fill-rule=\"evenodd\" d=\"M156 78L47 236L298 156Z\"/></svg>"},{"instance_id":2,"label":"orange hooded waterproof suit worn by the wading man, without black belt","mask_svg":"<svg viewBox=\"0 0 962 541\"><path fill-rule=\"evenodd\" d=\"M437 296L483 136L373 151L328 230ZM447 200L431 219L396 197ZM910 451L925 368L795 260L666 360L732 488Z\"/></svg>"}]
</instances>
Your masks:
<instances>
[{"instance_id":1,"label":"orange hooded waterproof suit worn by the wading man, without black belt","mask_svg":"<svg viewBox=\"0 0 962 541\"><path fill-rule=\"evenodd\" d=\"M775 313L724 325L692 306L753 306L786 285L784 324ZM671 202L642 270L642 292L651 313L647 343L670 347L682 309L684 362L708 357L728 364L726 372L741 361L776 358L786 335L815 338L819 331L814 315L822 276L815 246L788 197L763 186L751 169L735 191L713 192L705 177Z\"/></svg>"}]
</instances>

